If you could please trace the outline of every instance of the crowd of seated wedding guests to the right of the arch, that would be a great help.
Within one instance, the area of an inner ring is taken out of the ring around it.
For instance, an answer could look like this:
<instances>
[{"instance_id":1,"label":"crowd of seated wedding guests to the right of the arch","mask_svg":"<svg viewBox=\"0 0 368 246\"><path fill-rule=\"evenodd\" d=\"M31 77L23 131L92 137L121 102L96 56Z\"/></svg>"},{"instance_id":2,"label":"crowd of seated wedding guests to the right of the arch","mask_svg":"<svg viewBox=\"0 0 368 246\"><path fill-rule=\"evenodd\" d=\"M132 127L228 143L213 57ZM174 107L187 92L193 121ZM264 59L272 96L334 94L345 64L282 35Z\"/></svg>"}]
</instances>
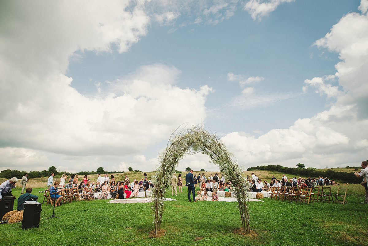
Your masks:
<instances>
[{"instance_id":1,"label":"crowd of seated wedding guests to the right of the arch","mask_svg":"<svg viewBox=\"0 0 368 246\"><path fill-rule=\"evenodd\" d=\"M338 185L335 183L334 180L330 180L327 177L318 177L318 179L308 177L307 179L304 178L297 178L294 177L292 179L287 179L287 177L283 174L280 179L275 178L275 175L272 175L270 182L268 183L267 180L262 182L261 179L258 178L257 175L251 173L251 177L247 175L247 180L250 182L250 191L251 192L259 192L259 191L270 191L272 187L316 187L316 186L330 186L330 185Z\"/></svg>"}]
</instances>

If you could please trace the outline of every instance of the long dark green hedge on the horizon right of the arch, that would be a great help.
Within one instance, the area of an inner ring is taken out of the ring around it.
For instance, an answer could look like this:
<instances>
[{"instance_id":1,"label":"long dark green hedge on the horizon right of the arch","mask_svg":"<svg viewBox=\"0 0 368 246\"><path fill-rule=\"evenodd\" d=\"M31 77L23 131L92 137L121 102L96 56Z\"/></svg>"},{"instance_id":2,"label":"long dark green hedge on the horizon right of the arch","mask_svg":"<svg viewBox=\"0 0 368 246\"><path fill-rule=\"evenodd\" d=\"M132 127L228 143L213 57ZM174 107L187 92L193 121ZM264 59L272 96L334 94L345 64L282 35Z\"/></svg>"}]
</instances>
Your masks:
<instances>
[{"instance_id":1,"label":"long dark green hedge on the horizon right of the arch","mask_svg":"<svg viewBox=\"0 0 368 246\"><path fill-rule=\"evenodd\" d=\"M300 163L298 163L300 164ZM303 164L301 164L304 166ZM318 178L319 176L328 177L333 180L340 180L340 182L346 183L360 183L361 179L357 178L354 173L349 172L337 172L333 169L328 169L326 171L318 170L316 168L288 168L281 165L268 165L268 166L254 166L247 169L247 171L253 170L267 170L267 171L277 171L284 174L291 174L295 176L304 176L311 178Z\"/></svg>"}]
</instances>

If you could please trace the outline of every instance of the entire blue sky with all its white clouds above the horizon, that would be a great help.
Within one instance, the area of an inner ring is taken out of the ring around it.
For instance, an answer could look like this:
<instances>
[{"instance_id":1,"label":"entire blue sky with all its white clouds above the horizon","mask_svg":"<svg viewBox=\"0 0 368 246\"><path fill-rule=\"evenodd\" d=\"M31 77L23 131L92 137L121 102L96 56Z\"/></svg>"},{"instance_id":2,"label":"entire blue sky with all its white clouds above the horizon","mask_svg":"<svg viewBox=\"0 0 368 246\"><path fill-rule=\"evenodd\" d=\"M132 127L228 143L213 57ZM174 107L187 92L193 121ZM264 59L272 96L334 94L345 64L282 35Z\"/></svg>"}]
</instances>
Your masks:
<instances>
[{"instance_id":1,"label":"entire blue sky with all its white clouds above the horizon","mask_svg":"<svg viewBox=\"0 0 368 246\"><path fill-rule=\"evenodd\" d=\"M245 168L368 158L367 0L41 4L3 4L0 170L151 171L186 122Z\"/></svg>"}]
</instances>

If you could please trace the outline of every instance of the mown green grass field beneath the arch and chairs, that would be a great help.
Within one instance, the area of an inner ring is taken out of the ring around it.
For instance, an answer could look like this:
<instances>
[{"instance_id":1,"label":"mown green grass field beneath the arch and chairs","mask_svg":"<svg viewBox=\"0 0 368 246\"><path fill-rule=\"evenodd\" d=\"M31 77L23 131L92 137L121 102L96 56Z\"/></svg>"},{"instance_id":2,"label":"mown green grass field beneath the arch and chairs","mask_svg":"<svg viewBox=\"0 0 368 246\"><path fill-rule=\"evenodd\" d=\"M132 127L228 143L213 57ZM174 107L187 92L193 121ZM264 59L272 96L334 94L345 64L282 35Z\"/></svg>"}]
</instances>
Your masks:
<instances>
[{"instance_id":1,"label":"mown green grass field beneath the arch and chairs","mask_svg":"<svg viewBox=\"0 0 368 246\"><path fill-rule=\"evenodd\" d=\"M262 175L266 178L272 173ZM237 203L189 203L185 187L172 197L177 201L165 202L161 229L166 234L161 238L148 237L154 219L149 203L73 202L57 207L55 214L60 218L50 219L46 218L52 215L52 207L45 203L39 228L0 225L0 245L368 245L368 204L361 203L364 188L343 186L348 187L344 205L299 205L269 198L250 202L252 233L248 236L233 233L241 226ZM32 193L39 195L42 188L35 187ZM13 190L15 197L20 191L19 187ZM167 194L171 197L171 191ZM43 196L39 197L42 202Z\"/></svg>"}]
</instances>

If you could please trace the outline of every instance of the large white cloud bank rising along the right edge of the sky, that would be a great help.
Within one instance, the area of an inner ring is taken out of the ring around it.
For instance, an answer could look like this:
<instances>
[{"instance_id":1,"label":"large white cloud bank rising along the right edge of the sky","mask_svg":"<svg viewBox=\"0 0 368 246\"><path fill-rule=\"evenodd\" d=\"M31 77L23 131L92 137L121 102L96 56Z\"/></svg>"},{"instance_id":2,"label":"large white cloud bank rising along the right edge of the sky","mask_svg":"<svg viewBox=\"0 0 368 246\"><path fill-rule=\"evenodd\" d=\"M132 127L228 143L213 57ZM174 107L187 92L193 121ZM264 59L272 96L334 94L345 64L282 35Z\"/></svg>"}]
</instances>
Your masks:
<instances>
[{"instance_id":1,"label":"large white cloud bank rising along the right edge of the sky","mask_svg":"<svg viewBox=\"0 0 368 246\"><path fill-rule=\"evenodd\" d=\"M364 4L362 1L361 6ZM319 94L336 98L336 102L314 117L298 119L289 129L270 130L258 138L241 132L222 137L240 164L295 167L300 162L318 168L354 166L367 159L367 15L348 13L315 44L338 52L342 61L335 65L335 75L305 80L303 91L314 87ZM338 80L343 92L326 83L332 79ZM243 104L249 104L245 97L243 100Z\"/></svg>"}]
</instances>

